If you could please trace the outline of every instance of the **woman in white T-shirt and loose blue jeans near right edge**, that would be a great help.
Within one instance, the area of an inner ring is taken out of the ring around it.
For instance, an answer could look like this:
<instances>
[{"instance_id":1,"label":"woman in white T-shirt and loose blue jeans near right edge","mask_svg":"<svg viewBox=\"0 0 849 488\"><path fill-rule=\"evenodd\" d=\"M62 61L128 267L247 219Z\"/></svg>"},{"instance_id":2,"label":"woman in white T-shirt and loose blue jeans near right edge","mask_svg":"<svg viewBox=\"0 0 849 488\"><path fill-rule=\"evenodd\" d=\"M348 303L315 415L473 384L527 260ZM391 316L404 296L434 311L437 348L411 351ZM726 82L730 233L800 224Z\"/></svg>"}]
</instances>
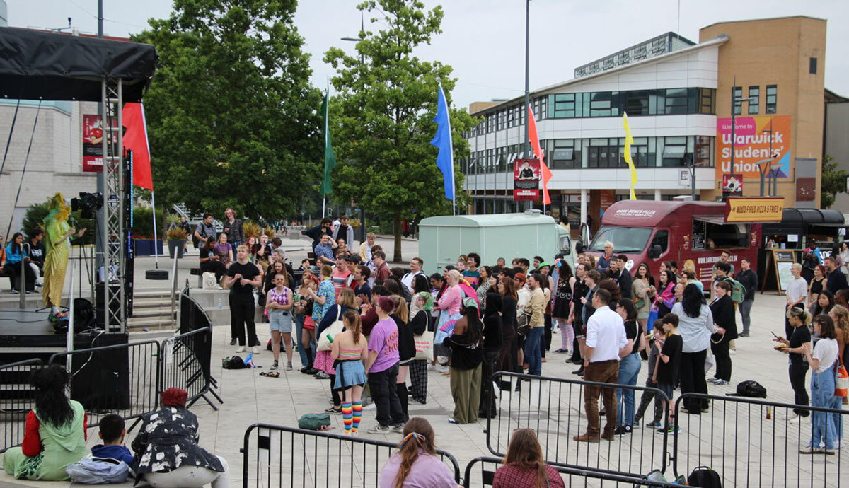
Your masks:
<instances>
[{"instance_id":1,"label":"woman in white T-shirt and loose blue jeans near right edge","mask_svg":"<svg viewBox=\"0 0 849 488\"><path fill-rule=\"evenodd\" d=\"M835 373L837 373L837 333L835 321L827 315L813 317L813 332L819 337L811 351L810 343L802 345L802 351L811 365L811 406L841 408L841 397L835 396ZM812 411L811 442L799 452L802 454L834 454L836 440L840 437L840 414ZM822 444L824 447L820 447Z\"/></svg>"}]
</instances>

